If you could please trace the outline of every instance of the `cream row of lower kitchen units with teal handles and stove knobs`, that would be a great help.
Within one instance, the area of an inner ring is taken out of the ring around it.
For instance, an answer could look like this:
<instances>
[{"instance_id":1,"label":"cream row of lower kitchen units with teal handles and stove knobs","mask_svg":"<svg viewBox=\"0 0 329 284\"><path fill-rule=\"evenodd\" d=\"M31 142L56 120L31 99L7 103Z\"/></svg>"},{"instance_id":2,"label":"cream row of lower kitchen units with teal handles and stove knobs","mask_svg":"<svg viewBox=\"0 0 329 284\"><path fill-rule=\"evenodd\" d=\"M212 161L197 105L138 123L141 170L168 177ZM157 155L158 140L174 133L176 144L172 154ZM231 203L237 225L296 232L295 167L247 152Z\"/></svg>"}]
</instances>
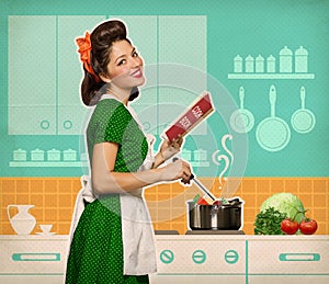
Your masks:
<instances>
[{"instance_id":1,"label":"cream row of lower kitchen units with teal handles and stove knobs","mask_svg":"<svg viewBox=\"0 0 329 284\"><path fill-rule=\"evenodd\" d=\"M329 236L156 235L151 283L328 283ZM64 283L69 238L0 236L1 283Z\"/></svg>"}]
</instances>

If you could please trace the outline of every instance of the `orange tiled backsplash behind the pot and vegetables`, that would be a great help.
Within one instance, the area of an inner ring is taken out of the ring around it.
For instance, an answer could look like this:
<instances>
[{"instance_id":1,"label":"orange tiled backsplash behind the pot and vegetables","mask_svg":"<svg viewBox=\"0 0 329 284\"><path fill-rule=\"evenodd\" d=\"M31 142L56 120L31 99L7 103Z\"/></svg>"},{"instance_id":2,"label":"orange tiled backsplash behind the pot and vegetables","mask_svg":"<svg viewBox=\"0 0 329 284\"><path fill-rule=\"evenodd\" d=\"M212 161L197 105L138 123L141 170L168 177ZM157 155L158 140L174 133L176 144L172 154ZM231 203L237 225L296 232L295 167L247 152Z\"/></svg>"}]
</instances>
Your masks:
<instances>
[{"instance_id":1,"label":"orange tiled backsplash behind the pot and vegetables","mask_svg":"<svg viewBox=\"0 0 329 284\"><path fill-rule=\"evenodd\" d=\"M218 193L218 179L200 179ZM79 178L2 178L0 179L0 235L15 234L9 223L9 204L33 204L30 213L37 225L53 224L53 231L69 234L75 200L80 190ZM315 218L317 234L329 235L329 179L328 178L245 178L235 196L245 201L243 230L253 234L253 221L262 202L274 193L296 194L308 208L307 216ZM156 230L188 230L185 201L200 193L193 185L184 188L180 183L159 184L148 188L145 197ZM10 209L14 215L14 208ZM32 234L39 231L37 226Z\"/></svg>"}]
</instances>

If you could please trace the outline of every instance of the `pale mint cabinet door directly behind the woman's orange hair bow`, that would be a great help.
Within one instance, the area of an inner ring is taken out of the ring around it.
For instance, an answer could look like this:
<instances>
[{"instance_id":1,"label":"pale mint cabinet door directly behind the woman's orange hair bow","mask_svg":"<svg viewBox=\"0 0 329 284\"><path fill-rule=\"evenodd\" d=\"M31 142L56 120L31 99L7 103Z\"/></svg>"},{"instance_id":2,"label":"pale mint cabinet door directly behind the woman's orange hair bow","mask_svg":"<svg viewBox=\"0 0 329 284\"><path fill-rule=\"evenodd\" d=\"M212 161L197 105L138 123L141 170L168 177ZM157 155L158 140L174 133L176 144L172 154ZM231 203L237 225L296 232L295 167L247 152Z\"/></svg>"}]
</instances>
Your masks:
<instances>
[{"instance_id":1,"label":"pale mint cabinet door directly behind the woman's orange hair bow","mask_svg":"<svg viewBox=\"0 0 329 284\"><path fill-rule=\"evenodd\" d=\"M82 133L87 110L80 100L80 82L83 70L76 37L92 32L105 20L104 15L60 15L58 16L58 134L78 135Z\"/></svg>"}]
</instances>

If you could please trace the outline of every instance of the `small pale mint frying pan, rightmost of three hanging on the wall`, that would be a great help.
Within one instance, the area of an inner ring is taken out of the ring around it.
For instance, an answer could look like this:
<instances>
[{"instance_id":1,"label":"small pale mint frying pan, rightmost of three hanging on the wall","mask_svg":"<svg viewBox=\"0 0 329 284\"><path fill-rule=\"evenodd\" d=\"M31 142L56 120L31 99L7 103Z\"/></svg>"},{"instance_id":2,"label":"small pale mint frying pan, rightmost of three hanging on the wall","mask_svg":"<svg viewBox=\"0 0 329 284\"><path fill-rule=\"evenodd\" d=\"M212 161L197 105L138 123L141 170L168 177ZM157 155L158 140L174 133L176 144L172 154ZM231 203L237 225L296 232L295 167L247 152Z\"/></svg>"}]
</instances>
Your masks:
<instances>
[{"instance_id":1,"label":"small pale mint frying pan, rightmost of three hanging on the wall","mask_svg":"<svg viewBox=\"0 0 329 284\"><path fill-rule=\"evenodd\" d=\"M316 123L314 113L305 109L305 87L300 88L302 109L292 115L292 126L297 133L309 133Z\"/></svg>"}]
</instances>

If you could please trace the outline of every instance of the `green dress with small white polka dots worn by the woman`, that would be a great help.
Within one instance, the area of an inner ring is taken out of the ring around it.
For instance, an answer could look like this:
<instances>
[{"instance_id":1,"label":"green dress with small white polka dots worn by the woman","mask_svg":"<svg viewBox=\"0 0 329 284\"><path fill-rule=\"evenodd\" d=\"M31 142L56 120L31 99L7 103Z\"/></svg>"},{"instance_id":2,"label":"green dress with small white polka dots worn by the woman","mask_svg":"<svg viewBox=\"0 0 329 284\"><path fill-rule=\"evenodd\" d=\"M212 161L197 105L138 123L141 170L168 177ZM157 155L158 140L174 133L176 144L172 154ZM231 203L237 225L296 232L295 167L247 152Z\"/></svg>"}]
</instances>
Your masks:
<instances>
[{"instance_id":1,"label":"green dress with small white polka dots worn by the woman","mask_svg":"<svg viewBox=\"0 0 329 284\"><path fill-rule=\"evenodd\" d=\"M114 171L136 172L143 164L148 144L125 105L101 100L87 128L89 157L94 144L118 144ZM148 275L124 275L120 194L102 195L88 204L79 219L70 246L66 283L149 283Z\"/></svg>"}]
</instances>

